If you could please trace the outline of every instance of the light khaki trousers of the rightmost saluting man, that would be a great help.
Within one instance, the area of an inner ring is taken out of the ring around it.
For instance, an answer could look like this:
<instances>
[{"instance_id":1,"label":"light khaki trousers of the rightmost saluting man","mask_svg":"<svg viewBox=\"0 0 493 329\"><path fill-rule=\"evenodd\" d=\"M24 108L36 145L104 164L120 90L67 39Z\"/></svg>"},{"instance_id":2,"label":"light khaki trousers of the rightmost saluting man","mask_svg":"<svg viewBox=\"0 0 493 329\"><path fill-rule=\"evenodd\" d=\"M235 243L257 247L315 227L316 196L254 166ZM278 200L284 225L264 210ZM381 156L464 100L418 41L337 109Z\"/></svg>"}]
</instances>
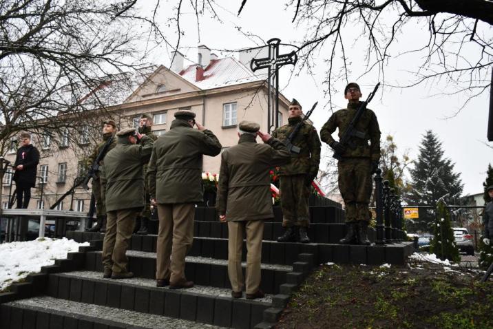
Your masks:
<instances>
[{"instance_id":1,"label":"light khaki trousers of the rightmost saluting man","mask_svg":"<svg viewBox=\"0 0 493 329\"><path fill-rule=\"evenodd\" d=\"M254 294L260 287L263 220L228 222L228 275L233 291L243 290L242 246L246 233L246 293Z\"/></svg>"}]
</instances>

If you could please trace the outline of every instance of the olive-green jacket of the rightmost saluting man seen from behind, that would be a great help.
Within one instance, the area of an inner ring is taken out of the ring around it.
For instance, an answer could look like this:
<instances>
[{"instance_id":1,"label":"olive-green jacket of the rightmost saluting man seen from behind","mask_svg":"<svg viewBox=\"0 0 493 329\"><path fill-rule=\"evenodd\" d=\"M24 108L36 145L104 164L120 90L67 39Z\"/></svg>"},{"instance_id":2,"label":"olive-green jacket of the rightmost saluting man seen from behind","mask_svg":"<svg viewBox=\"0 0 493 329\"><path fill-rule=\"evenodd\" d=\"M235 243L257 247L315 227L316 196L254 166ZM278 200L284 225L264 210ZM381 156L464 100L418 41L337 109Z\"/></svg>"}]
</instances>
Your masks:
<instances>
[{"instance_id":1,"label":"olive-green jacket of the rightmost saluting man seen from behind","mask_svg":"<svg viewBox=\"0 0 493 329\"><path fill-rule=\"evenodd\" d=\"M216 202L228 221L273 218L269 169L289 162L284 144L271 138L257 144L255 136L243 134L238 145L222 152Z\"/></svg>"}]
</instances>

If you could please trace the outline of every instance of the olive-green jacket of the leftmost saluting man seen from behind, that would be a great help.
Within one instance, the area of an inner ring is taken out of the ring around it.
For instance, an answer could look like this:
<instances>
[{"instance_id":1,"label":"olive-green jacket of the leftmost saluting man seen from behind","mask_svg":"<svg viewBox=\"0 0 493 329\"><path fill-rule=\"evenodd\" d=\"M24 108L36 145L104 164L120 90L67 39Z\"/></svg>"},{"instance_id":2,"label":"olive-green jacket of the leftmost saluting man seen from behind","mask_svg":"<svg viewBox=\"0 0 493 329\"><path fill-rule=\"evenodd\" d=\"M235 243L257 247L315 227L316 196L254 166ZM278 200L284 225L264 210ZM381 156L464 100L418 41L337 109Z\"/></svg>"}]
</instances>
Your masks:
<instances>
[{"instance_id":1,"label":"olive-green jacket of the leftmost saluting man seen from behind","mask_svg":"<svg viewBox=\"0 0 493 329\"><path fill-rule=\"evenodd\" d=\"M118 137L116 147L106 154L101 170L106 211L144 206L143 165L149 161L153 144L147 136L138 145L127 137Z\"/></svg>"}]
</instances>

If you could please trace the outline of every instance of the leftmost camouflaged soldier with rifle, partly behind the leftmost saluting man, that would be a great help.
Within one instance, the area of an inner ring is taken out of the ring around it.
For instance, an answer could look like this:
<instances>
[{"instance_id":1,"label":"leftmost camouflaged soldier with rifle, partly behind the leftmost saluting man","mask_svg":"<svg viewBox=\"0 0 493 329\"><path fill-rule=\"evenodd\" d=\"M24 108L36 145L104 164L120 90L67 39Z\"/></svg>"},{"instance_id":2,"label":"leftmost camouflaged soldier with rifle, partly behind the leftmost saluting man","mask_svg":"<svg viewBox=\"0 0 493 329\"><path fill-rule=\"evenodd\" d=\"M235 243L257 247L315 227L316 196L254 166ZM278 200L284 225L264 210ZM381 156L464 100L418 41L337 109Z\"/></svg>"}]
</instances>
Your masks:
<instances>
[{"instance_id":1,"label":"leftmost camouflaged soldier with rifle, partly behind the leftmost saluting man","mask_svg":"<svg viewBox=\"0 0 493 329\"><path fill-rule=\"evenodd\" d=\"M114 120L103 121L103 141L100 142L98 145L96 145L96 147L94 147L92 154L87 159L86 167L92 166L92 164L98 157L99 152L105 146L108 138L114 135L115 132L116 132L116 123L114 122ZM112 144L109 145L107 152L113 149L115 145L116 145L116 138L114 138ZM103 165L103 160L99 162L99 165L100 166ZM96 200L97 223L96 225L92 226L91 229L87 230L89 232L97 232L97 231L104 232L106 229L105 195L103 193L103 190L101 189L101 180L99 179L99 177L100 177L100 172L97 171L96 177L92 179L92 194L94 195L94 200Z\"/></svg>"}]
</instances>

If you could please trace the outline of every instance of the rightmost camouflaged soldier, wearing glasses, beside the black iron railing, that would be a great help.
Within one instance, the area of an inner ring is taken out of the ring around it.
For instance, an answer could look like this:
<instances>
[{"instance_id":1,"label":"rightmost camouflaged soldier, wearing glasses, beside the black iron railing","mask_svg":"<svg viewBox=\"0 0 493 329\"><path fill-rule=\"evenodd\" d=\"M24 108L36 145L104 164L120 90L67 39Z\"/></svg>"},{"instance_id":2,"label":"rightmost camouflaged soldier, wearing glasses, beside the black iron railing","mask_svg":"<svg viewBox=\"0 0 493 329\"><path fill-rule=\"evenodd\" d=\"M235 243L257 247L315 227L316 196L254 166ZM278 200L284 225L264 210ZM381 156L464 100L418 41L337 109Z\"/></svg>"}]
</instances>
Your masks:
<instances>
[{"instance_id":1,"label":"rightmost camouflaged soldier, wearing glasses, beside the black iron railing","mask_svg":"<svg viewBox=\"0 0 493 329\"><path fill-rule=\"evenodd\" d=\"M368 241L368 222L370 211L368 204L372 191L372 174L377 171L380 159L380 129L377 116L371 109L366 109L355 129L364 134L364 138L353 136L349 147L337 142L332 134L339 128L339 138L344 135L350 121L359 107L362 94L357 83L349 83L344 89L344 98L348 100L347 109L339 109L328 119L320 136L323 142L342 154L339 169L339 191L346 206L346 223L348 230L342 244ZM368 145L368 141L370 144Z\"/></svg>"}]
</instances>

